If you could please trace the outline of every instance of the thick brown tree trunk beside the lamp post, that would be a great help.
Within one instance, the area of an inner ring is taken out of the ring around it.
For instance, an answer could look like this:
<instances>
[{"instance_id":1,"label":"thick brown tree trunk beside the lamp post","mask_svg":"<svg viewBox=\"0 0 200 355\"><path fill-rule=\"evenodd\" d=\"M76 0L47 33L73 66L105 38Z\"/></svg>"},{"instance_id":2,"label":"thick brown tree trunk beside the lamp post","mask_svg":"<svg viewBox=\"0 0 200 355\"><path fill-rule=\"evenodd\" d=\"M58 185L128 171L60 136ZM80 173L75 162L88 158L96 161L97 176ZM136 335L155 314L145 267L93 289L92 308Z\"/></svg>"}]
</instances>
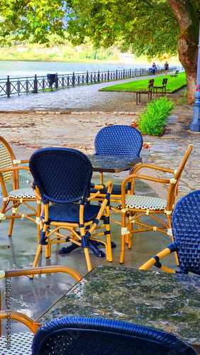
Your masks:
<instances>
[{"instance_id":1,"label":"thick brown tree trunk beside the lamp post","mask_svg":"<svg viewBox=\"0 0 200 355\"><path fill-rule=\"evenodd\" d=\"M179 61L187 77L187 102L194 102L199 43L199 18L194 0L168 0L180 28Z\"/></svg>"}]
</instances>

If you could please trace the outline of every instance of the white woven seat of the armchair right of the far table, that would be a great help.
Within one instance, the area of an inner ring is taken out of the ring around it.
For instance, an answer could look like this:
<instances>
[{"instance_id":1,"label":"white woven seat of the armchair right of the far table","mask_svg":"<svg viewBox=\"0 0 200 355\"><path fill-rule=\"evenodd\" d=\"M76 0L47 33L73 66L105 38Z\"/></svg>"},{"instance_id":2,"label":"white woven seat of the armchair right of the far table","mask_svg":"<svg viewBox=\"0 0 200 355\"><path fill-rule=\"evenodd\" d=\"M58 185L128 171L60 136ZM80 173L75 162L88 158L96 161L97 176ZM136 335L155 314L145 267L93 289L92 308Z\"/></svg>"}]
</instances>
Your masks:
<instances>
[{"instance_id":1,"label":"white woven seat of the armchair right of the far table","mask_svg":"<svg viewBox=\"0 0 200 355\"><path fill-rule=\"evenodd\" d=\"M157 197L128 195L126 196L126 207L162 211L167 209L167 200L162 200Z\"/></svg>"}]
</instances>

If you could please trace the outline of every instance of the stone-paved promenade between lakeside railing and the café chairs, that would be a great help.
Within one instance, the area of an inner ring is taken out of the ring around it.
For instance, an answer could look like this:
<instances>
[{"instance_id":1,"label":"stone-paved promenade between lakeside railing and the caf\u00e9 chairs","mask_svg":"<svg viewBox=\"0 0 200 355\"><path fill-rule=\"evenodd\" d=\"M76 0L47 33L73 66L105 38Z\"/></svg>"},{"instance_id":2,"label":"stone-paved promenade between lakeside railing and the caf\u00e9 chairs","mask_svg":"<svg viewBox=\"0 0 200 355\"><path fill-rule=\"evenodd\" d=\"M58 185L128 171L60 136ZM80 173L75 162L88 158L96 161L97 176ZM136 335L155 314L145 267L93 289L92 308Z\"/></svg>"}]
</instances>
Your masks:
<instances>
[{"instance_id":1,"label":"stone-paved promenade between lakeside railing and the caf\u00e9 chairs","mask_svg":"<svg viewBox=\"0 0 200 355\"><path fill-rule=\"evenodd\" d=\"M140 79L118 80L118 83ZM1 136L9 141L17 157L29 158L36 149L48 146L94 153L94 138L101 128L112 124L131 125L146 106L146 95L142 95L142 102L136 106L133 92L99 92L101 87L113 84L116 81L1 98ZM183 93L184 89L168 94L175 109L165 134L162 137L143 136L148 149L143 148L141 153L143 161L177 168L189 143L194 145L179 185L180 197L200 189L200 136L189 131L193 106L179 103Z\"/></svg>"}]
</instances>

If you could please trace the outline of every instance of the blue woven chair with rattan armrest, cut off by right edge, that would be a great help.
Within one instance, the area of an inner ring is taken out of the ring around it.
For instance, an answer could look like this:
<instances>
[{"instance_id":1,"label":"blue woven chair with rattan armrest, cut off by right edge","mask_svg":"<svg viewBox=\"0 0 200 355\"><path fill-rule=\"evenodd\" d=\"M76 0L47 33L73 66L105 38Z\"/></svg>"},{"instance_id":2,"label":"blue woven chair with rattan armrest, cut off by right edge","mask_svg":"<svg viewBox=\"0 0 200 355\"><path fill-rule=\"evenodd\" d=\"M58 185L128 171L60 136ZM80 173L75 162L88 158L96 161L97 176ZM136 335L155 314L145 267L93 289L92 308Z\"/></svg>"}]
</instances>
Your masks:
<instances>
[{"instance_id":1,"label":"blue woven chair with rattan armrest, cut off by right edge","mask_svg":"<svg viewBox=\"0 0 200 355\"><path fill-rule=\"evenodd\" d=\"M146 261L140 270L148 270L155 265L167 273L195 273L200 275L200 240L199 240L199 204L200 191L191 192L184 196L177 203L172 216L172 232L174 242L167 248L157 253L155 256ZM199 203L196 204L196 200ZM194 202L193 206L190 204ZM187 206L187 214L184 217L185 208ZM194 213L195 212L195 213ZM196 224L196 227L194 226ZM180 271L162 266L160 260L173 252L182 254L179 260Z\"/></svg>"}]
</instances>

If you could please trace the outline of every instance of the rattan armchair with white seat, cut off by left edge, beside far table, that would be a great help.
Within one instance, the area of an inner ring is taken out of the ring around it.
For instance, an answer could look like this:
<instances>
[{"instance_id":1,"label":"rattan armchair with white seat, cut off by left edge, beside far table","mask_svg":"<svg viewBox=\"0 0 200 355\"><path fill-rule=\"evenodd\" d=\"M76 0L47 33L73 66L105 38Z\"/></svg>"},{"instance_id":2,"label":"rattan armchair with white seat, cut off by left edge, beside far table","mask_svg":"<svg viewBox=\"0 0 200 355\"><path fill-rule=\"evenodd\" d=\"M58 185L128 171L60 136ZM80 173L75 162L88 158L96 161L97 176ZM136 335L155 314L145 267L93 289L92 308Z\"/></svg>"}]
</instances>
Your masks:
<instances>
[{"instance_id":1,"label":"rattan armchair with white seat, cut off by left edge, beside far table","mask_svg":"<svg viewBox=\"0 0 200 355\"><path fill-rule=\"evenodd\" d=\"M16 160L16 157L11 149L9 143L0 136L1 147L1 168L0 168L0 183L3 193L3 204L1 206L0 223L4 219L10 219L9 236L12 235L13 223L15 219L24 217L30 221L35 222L38 225L38 241L40 240L40 204L37 204L37 209L33 208L28 202L37 202L36 197L11 197L6 189L6 183L12 180L13 192L17 194L19 189L19 170L29 170L28 166L21 166L18 164L26 164L29 160ZM30 187L31 192L31 187ZM33 194L33 193L32 193ZM31 195L32 195L31 194ZM24 214L18 211L18 207L23 204L31 210L31 213ZM11 216L7 216L7 212L11 211ZM35 217L35 218L34 218Z\"/></svg>"}]
</instances>

